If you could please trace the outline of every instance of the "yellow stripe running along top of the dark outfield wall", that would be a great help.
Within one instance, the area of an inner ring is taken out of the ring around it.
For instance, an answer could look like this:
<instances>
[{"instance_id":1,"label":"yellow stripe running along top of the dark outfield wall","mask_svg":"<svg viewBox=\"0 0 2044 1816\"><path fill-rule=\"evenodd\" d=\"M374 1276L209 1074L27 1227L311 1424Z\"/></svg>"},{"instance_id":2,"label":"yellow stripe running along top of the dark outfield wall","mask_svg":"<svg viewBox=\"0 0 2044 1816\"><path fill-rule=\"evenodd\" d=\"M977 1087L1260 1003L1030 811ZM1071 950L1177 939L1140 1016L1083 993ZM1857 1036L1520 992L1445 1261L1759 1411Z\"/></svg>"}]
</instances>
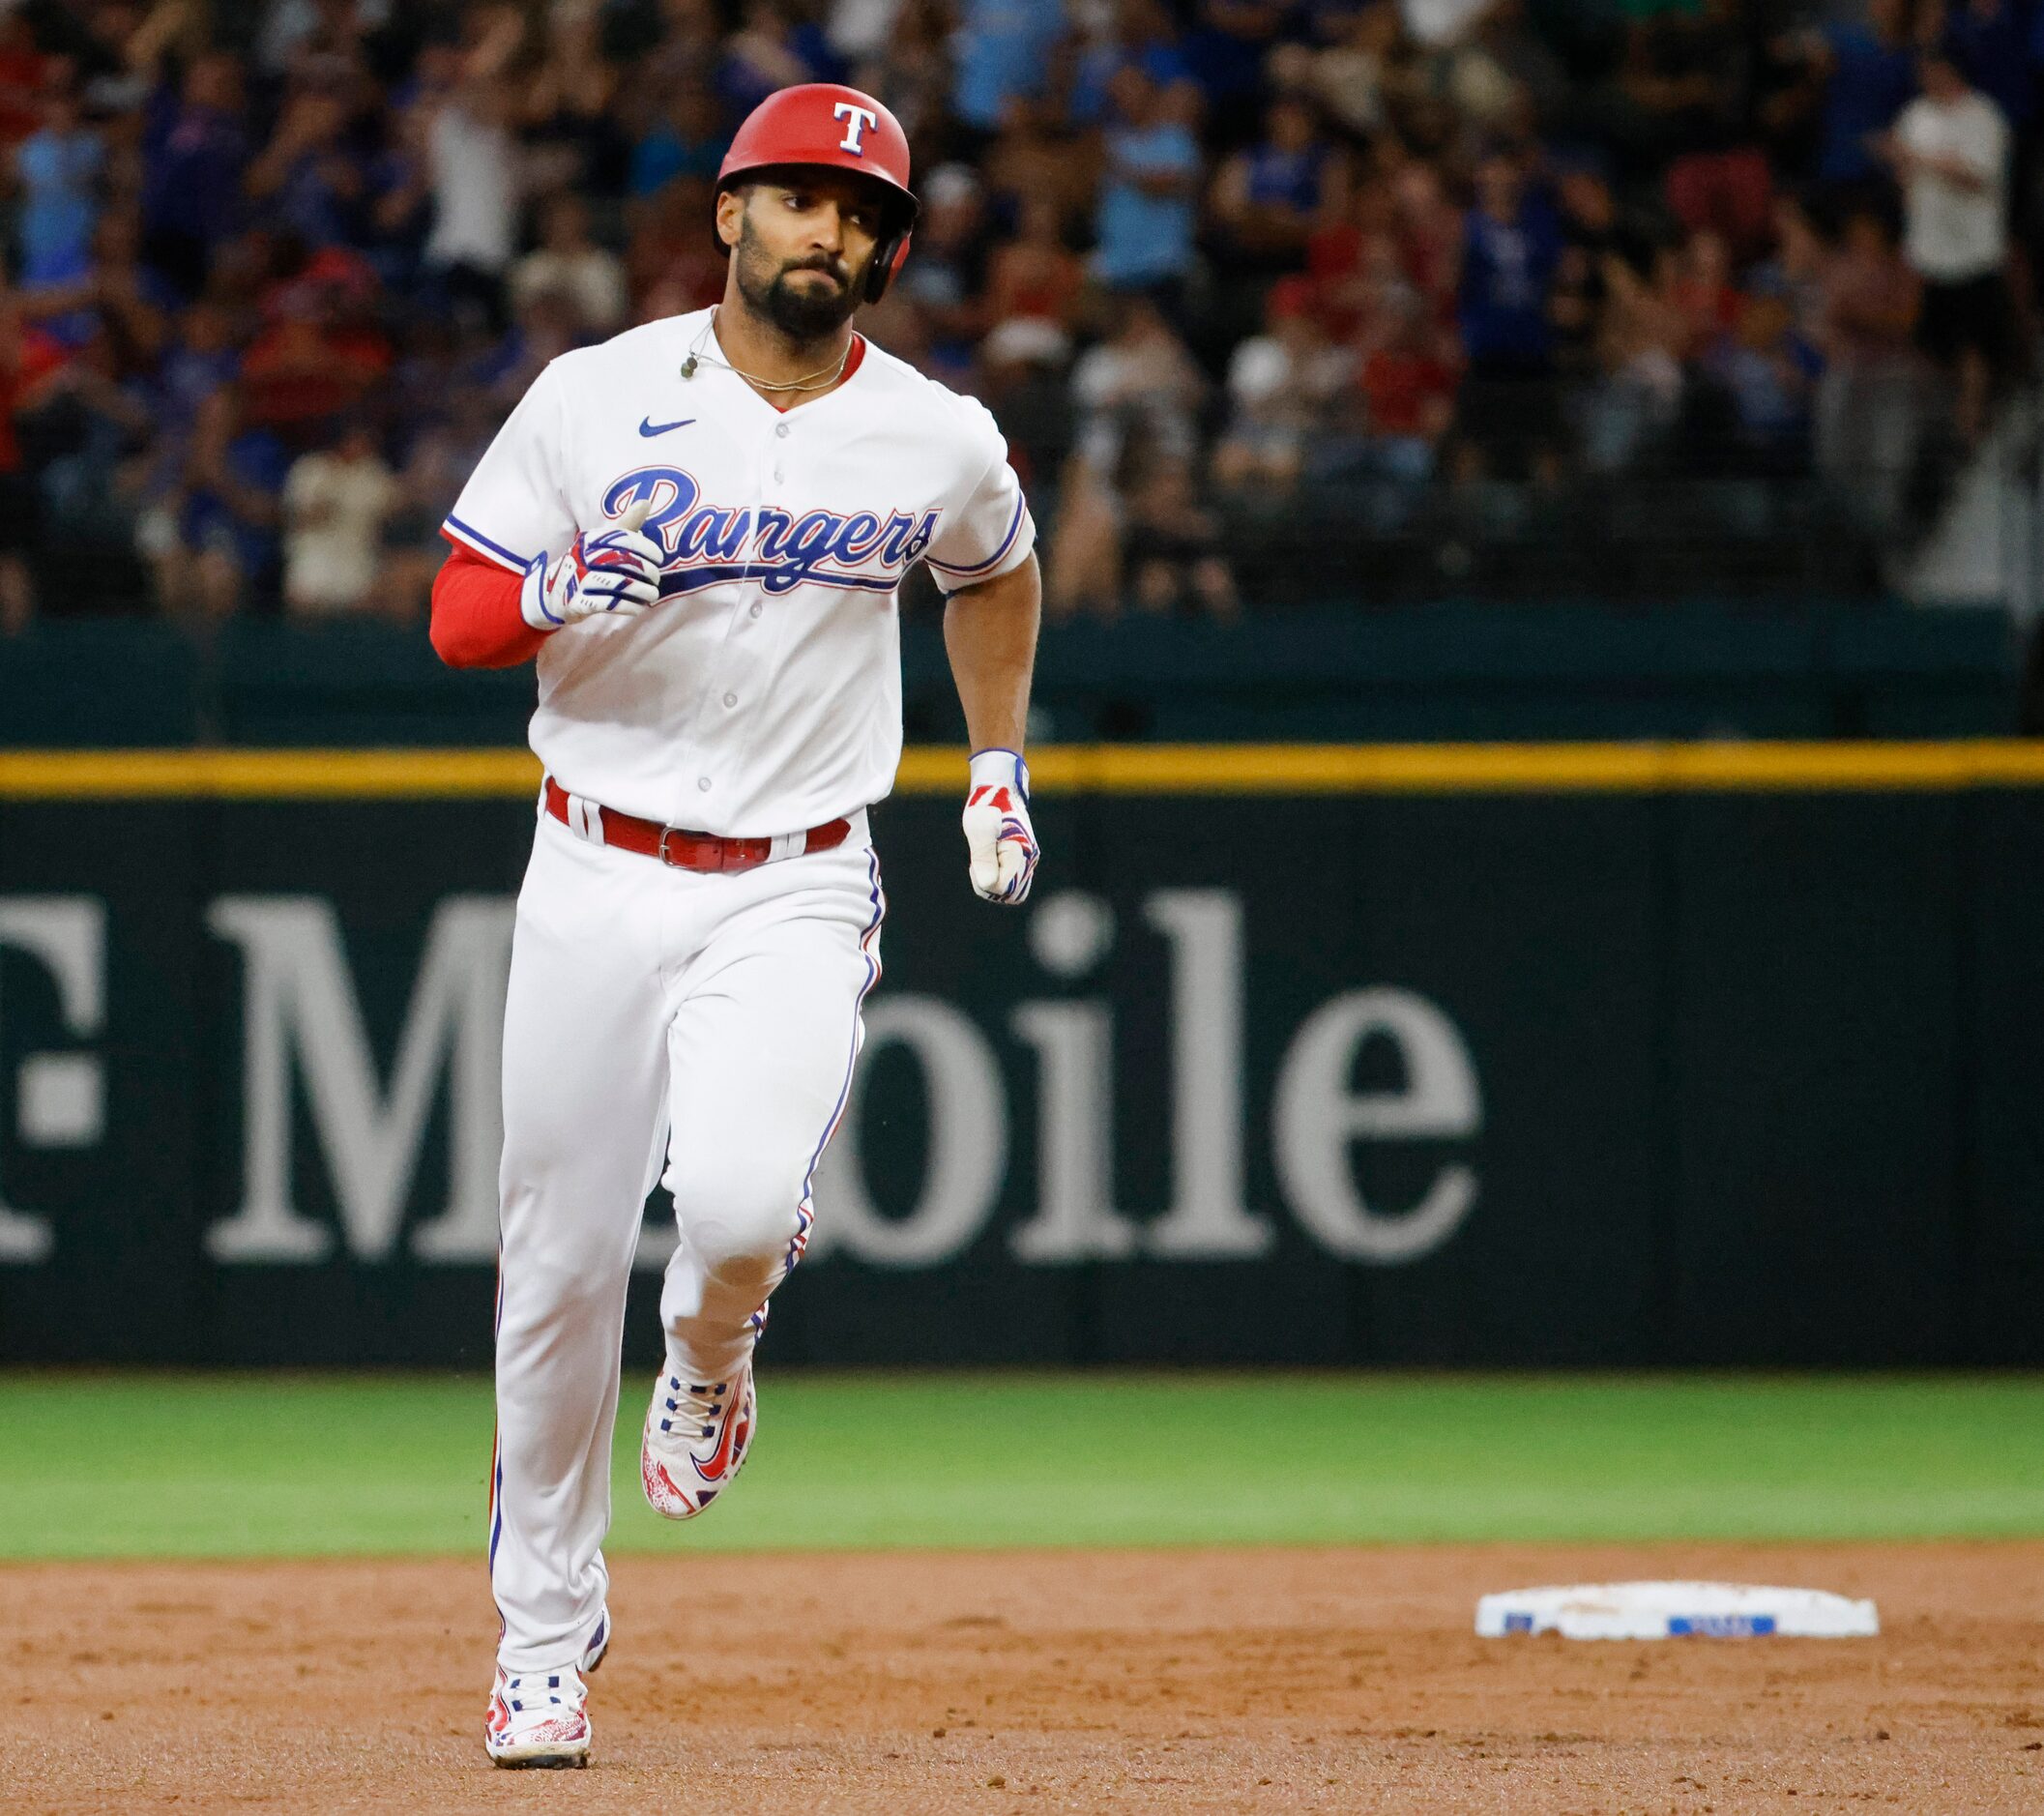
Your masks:
<instances>
[{"instance_id":1,"label":"yellow stripe running along top of the dark outfield wall","mask_svg":"<svg viewBox=\"0 0 2044 1816\"><path fill-rule=\"evenodd\" d=\"M1862 744L1047 744L1038 793L1664 793L2044 787L2044 740ZM897 793L957 793L920 744ZM0 751L0 800L517 798L525 751Z\"/></svg>"}]
</instances>

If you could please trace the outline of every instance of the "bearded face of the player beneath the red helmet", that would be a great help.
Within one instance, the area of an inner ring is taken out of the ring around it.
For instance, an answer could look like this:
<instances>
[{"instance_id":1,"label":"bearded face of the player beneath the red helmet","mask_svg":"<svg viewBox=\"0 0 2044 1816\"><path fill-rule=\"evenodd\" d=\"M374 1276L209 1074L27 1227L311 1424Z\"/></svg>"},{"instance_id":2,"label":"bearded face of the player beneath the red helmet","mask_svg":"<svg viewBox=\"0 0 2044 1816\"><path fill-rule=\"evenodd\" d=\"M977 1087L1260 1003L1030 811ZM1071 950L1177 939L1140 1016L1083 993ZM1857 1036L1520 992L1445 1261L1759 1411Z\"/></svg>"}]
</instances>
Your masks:
<instances>
[{"instance_id":1,"label":"bearded face of the player beneath the red helmet","mask_svg":"<svg viewBox=\"0 0 2044 1816\"><path fill-rule=\"evenodd\" d=\"M822 170L748 184L717 211L726 243L738 235L738 294L793 342L824 339L850 319L881 225L871 184Z\"/></svg>"}]
</instances>

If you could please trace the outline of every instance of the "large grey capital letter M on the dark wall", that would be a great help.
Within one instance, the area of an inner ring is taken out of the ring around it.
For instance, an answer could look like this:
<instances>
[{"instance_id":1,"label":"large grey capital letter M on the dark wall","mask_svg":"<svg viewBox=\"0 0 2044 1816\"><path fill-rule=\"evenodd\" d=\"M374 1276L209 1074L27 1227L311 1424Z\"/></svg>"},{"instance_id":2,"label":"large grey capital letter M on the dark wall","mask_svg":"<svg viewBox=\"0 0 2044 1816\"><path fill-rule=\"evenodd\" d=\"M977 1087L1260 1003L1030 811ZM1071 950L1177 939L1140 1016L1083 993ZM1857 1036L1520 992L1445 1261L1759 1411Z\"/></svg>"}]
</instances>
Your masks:
<instances>
[{"instance_id":1,"label":"large grey capital letter M on the dark wall","mask_svg":"<svg viewBox=\"0 0 2044 1816\"><path fill-rule=\"evenodd\" d=\"M292 1082L303 1078L347 1252L390 1256L442 1076L450 1086L448 1205L413 1231L444 1262L497 1252L497 1088L513 904L450 896L425 935L388 1088L333 906L317 896L223 896L206 924L241 949L241 1209L206 1231L221 1262L319 1262L333 1231L292 1202Z\"/></svg>"}]
</instances>

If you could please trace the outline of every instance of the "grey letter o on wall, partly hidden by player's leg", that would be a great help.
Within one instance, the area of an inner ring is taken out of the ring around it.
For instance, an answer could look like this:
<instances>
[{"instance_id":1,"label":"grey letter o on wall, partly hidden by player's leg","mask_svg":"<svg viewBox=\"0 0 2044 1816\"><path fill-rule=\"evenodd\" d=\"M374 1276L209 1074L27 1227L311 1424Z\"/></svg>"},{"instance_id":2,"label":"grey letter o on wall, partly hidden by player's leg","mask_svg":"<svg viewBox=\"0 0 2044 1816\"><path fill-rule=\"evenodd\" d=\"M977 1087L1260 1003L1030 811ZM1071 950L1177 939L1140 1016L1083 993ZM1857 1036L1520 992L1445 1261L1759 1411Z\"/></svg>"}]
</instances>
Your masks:
<instances>
[{"instance_id":1,"label":"grey letter o on wall, partly hidden by player's leg","mask_svg":"<svg viewBox=\"0 0 2044 1816\"><path fill-rule=\"evenodd\" d=\"M1000 1063L979 1029L934 996L889 996L865 1023L852 1100L818 1170L811 1254L842 1247L883 1268L934 1268L971 1245L1002 1190L1008 1096ZM873 1049L889 1041L916 1055L930 1104L922 1196L901 1217L875 1209L858 1155L858 1080Z\"/></svg>"}]
</instances>

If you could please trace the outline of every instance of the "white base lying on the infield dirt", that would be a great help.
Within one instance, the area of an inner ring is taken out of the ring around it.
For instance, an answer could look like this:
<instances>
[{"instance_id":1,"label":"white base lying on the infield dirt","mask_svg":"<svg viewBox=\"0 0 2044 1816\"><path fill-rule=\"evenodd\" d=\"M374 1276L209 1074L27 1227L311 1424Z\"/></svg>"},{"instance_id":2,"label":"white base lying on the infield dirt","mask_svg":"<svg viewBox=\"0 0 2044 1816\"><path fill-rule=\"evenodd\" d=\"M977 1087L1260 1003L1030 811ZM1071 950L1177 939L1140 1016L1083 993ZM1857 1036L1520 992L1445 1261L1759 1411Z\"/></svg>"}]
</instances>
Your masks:
<instances>
[{"instance_id":1,"label":"white base lying on the infield dirt","mask_svg":"<svg viewBox=\"0 0 2044 1816\"><path fill-rule=\"evenodd\" d=\"M1776 1634L1850 1640L1880 1632L1872 1601L1823 1589L1762 1589L1748 1583L1576 1583L1506 1589L1476 1603L1476 1632L1560 1634L1564 1640L1672 1640L1701 1634L1750 1640Z\"/></svg>"}]
</instances>

